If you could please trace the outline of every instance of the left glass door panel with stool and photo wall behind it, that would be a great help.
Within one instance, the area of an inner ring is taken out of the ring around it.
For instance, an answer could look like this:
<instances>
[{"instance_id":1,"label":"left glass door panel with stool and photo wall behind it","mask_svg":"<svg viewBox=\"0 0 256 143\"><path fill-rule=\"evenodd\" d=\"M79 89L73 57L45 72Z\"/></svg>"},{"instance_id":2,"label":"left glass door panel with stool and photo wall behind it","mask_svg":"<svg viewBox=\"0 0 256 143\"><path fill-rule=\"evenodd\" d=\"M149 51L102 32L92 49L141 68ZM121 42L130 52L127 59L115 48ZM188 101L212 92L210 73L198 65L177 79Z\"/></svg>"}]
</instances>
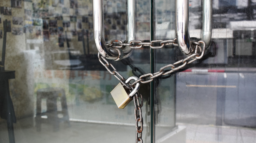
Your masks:
<instances>
[{"instance_id":1,"label":"left glass door panel with stool and photo wall behind it","mask_svg":"<svg viewBox=\"0 0 256 143\"><path fill-rule=\"evenodd\" d=\"M126 40L126 1L104 0L103 5L106 43ZM6 51L0 50L6 53L0 72L0 142L9 137L26 143L135 141L134 104L117 108L110 92L119 81L98 61L92 8L92 0L1 0L0 45L7 32ZM147 0L136 4L139 40L150 39L148 9ZM125 79L140 76L151 70L150 48L108 61ZM150 142L150 85L141 86L140 93L142 139ZM8 132L7 119L14 132Z\"/></svg>"}]
</instances>

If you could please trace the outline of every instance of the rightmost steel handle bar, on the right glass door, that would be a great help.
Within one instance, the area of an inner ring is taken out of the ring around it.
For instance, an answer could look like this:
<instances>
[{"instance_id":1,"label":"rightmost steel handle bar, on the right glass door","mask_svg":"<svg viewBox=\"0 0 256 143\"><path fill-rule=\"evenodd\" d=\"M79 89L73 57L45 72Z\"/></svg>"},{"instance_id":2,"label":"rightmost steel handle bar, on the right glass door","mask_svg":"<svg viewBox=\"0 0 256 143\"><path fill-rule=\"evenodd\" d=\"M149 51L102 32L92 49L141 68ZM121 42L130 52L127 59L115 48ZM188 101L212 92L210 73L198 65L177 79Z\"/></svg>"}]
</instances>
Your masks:
<instances>
[{"instance_id":1,"label":"rightmost steel handle bar, on the right glass door","mask_svg":"<svg viewBox=\"0 0 256 143\"><path fill-rule=\"evenodd\" d=\"M211 44L212 37L212 0L203 0L203 19L201 29L201 40L206 43L206 50Z\"/></svg>"}]
</instances>

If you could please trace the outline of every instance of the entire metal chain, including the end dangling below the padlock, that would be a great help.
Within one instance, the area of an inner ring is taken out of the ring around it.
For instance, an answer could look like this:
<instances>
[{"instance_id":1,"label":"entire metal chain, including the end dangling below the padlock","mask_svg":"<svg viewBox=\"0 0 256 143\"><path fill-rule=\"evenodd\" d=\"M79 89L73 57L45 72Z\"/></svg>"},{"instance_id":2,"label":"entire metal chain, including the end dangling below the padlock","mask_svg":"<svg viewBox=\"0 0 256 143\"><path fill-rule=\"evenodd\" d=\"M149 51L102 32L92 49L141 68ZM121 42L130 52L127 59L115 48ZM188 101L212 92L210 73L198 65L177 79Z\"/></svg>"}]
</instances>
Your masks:
<instances>
[{"instance_id":1,"label":"entire metal chain, including the end dangling below the padlock","mask_svg":"<svg viewBox=\"0 0 256 143\"><path fill-rule=\"evenodd\" d=\"M155 46L155 45L159 45L159 44L160 44L160 46ZM174 71L180 70L181 68L185 67L187 64L190 64L197 59L201 59L205 52L205 42L202 40L191 41L191 44L192 44L191 51L194 52L193 54L191 54L190 56L187 56L184 59L181 59L173 64L163 66L160 68L159 71L157 71L155 73L143 74L143 75L139 76L138 80L135 80L131 84L125 83L126 79L117 71L117 69L111 63L109 63L107 61L107 59L105 57L101 56L98 53L98 58L99 58L100 63L107 69L107 71L110 74L113 74L124 87L132 90L134 85L138 82L149 83L149 82L153 81L153 79L156 77L159 77L161 75L172 74ZM139 48L142 48L143 46L149 46L152 49L160 49L167 45L179 46L177 44L176 39L174 39L174 40L153 40L151 42L142 42L141 40L131 40L129 43L124 43L121 40L111 40L111 42L109 44L107 44L108 47L112 47L112 48L123 48L124 46L129 46L132 49L139 49ZM140 98L140 102L139 102L139 98ZM142 140L143 118L142 118L142 111L141 111L141 107L143 105L142 95L139 94L139 92L137 92L133 96L133 101L134 101L134 105L135 105L135 109L134 109L135 126L136 126L136 141L135 141L135 143L138 143L139 141L141 143L143 143L143 140Z\"/></svg>"}]
</instances>

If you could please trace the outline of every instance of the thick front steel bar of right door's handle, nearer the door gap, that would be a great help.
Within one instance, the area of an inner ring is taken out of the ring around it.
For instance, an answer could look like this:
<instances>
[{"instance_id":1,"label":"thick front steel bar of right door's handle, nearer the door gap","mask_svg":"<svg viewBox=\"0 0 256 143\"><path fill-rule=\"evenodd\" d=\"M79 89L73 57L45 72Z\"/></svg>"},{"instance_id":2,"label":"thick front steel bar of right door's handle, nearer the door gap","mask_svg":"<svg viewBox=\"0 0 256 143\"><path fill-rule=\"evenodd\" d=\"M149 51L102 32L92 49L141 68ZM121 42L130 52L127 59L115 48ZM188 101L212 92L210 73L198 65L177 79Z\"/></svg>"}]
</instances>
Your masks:
<instances>
[{"instance_id":1,"label":"thick front steel bar of right door's handle, nearer the door gap","mask_svg":"<svg viewBox=\"0 0 256 143\"><path fill-rule=\"evenodd\" d=\"M191 55L188 25L188 0L176 0L176 35L183 54Z\"/></svg>"}]
</instances>

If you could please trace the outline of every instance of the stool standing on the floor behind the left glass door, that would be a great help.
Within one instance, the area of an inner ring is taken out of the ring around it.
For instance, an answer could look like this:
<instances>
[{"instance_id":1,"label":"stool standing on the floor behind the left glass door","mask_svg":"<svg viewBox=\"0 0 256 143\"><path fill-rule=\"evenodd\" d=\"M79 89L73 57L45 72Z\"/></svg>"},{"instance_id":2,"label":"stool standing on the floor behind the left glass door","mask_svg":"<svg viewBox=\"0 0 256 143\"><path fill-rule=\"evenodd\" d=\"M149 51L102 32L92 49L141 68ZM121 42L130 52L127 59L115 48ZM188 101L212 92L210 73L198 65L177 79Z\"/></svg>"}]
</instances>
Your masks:
<instances>
[{"instance_id":1,"label":"stool standing on the floor behind the left glass door","mask_svg":"<svg viewBox=\"0 0 256 143\"><path fill-rule=\"evenodd\" d=\"M53 124L53 131L59 130L59 123L61 121L65 121L70 126L66 95L63 88L41 88L36 91L36 94L35 126L37 131L41 131L41 123ZM57 110L57 98L60 98L61 101L61 111ZM42 99L46 99L46 112L41 111ZM62 114L63 117L59 118L59 114ZM42 118L42 116L47 116L47 118Z\"/></svg>"}]
</instances>

